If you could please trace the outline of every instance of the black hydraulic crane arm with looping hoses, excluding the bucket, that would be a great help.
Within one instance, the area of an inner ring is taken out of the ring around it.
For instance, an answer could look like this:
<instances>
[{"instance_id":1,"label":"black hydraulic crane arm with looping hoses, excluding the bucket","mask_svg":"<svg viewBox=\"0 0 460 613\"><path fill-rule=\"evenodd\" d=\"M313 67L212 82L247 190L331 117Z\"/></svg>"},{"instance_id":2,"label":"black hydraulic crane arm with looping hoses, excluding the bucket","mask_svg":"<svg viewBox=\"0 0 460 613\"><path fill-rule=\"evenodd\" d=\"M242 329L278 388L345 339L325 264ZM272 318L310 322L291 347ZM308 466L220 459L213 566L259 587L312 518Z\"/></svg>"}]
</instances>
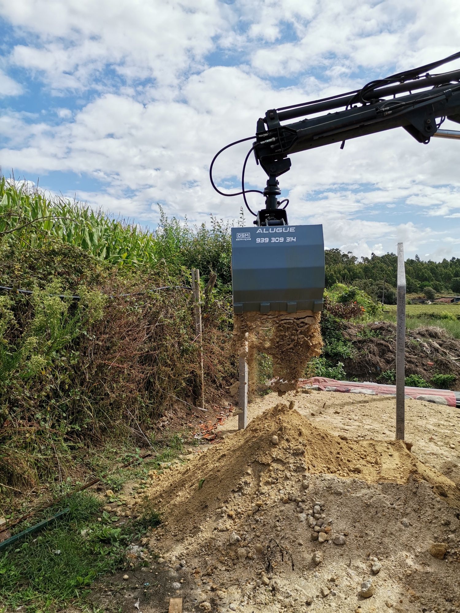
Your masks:
<instances>
[{"instance_id":1,"label":"black hydraulic crane arm with looping hoses, excluding the bucket","mask_svg":"<svg viewBox=\"0 0 460 613\"><path fill-rule=\"evenodd\" d=\"M455 53L426 66L368 83L356 91L268 110L257 122L256 140L251 148L257 164L269 177L266 188L259 192L265 196L266 208L259 211L255 224L287 224L286 207L279 208L282 202L277 199L281 194L277 177L290 169L289 155L292 153L338 142L343 148L346 140L393 128L404 128L418 142L426 144L446 118L460 123L460 70L442 74L428 72L458 58L460 53ZM285 123L292 120L297 121ZM455 138L458 135L442 131L439 136ZM224 149L226 147L221 151ZM224 196L241 193L247 207L244 169L250 153L243 165L242 192L223 194L217 190ZM214 161L215 158L210 168L211 181ZM213 181L212 185L215 187Z\"/></svg>"}]
</instances>

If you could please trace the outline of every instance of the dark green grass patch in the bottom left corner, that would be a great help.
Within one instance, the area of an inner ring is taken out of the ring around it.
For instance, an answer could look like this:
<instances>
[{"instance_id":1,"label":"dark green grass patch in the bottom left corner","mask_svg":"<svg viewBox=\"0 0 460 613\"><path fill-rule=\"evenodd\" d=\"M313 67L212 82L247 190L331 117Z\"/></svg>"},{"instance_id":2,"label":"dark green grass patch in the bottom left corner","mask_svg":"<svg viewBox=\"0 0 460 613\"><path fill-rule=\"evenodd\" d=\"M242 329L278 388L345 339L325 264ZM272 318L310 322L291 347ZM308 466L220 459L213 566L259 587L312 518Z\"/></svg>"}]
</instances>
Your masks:
<instances>
[{"instance_id":1,"label":"dark green grass patch in the bottom left corner","mask_svg":"<svg viewBox=\"0 0 460 613\"><path fill-rule=\"evenodd\" d=\"M84 603L97 577L125 566L125 549L132 538L159 524L153 510L123 527L114 527L106 512L98 522L102 503L87 492L66 504L69 514L54 527L0 554L0 611L7 610L2 606L23 606L27 613L51 613L65 603Z\"/></svg>"}]
</instances>

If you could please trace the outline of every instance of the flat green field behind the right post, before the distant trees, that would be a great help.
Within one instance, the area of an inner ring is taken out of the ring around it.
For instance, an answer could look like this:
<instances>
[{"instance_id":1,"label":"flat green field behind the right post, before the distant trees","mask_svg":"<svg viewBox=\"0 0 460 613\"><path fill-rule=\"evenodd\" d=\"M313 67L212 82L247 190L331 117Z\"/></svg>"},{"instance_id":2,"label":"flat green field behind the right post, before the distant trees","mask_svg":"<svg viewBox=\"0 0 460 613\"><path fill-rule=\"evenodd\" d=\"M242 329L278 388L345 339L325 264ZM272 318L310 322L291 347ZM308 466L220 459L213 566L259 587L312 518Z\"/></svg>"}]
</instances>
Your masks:
<instances>
[{"instance_id":1,"label":"flat green field behind the right post, before the distant trees","mask_svg":"<svg viewBox=\"0 0 460 613\"><path fill-rule=\"evenodd\" d=\"M383 318L396 322L396 305L385 305L385 311ZM460 338L460 304L406 305L405 314L408 330L437 326Z\"/></svg>"}]
</instances>

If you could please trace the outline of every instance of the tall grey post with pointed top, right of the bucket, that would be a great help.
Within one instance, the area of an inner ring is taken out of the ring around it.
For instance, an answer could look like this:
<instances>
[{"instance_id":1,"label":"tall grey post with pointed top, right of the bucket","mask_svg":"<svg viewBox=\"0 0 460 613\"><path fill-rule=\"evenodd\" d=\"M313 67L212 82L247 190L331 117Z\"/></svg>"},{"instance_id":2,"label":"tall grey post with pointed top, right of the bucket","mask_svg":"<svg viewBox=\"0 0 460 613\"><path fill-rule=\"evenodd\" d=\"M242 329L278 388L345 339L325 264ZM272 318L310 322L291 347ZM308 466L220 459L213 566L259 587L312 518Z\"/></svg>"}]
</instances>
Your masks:
<instances>
[{"instance_id":1,"label":"tall grey post with pointed top, right of the bucket","mask_svg":"<svg viewBox=\"0 0 460 613\"><path fill-rule=\"evenodd\" d=\"M404 441L405 266L402 243L397 243L396 305L396 440Z\"/></svg>"}]
</instances>

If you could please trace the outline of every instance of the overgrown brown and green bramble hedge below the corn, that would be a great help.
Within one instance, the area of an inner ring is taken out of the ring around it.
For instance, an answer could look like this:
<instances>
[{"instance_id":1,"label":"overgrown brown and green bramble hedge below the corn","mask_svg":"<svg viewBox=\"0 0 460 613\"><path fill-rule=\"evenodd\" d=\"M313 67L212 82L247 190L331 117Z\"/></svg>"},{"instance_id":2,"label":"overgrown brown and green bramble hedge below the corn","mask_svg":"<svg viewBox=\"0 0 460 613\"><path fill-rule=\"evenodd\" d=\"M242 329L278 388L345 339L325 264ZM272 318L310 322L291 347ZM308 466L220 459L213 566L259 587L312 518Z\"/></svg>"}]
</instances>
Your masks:
<instances>
[{"instance_id":1,"label":"overgrown brown and green bramble hedge below the corn","mask_svg":"<svg viewBox=\"0 0 460 613\"><path fill-rule=\"evenodd\" d=\"M111 276L98 291L80 287L79 302L48 295L56 283L1 297L0 472L8 483L46 478L80 440L142 441L165 410L191 410L199 343L187 274L170 276L172 289L161 291L150 291L166 284L158 273ZM102 298L110 292L118 297ZM226 306L204 295L209 402L234 364Z\"/></svg>"}]
</instances>

